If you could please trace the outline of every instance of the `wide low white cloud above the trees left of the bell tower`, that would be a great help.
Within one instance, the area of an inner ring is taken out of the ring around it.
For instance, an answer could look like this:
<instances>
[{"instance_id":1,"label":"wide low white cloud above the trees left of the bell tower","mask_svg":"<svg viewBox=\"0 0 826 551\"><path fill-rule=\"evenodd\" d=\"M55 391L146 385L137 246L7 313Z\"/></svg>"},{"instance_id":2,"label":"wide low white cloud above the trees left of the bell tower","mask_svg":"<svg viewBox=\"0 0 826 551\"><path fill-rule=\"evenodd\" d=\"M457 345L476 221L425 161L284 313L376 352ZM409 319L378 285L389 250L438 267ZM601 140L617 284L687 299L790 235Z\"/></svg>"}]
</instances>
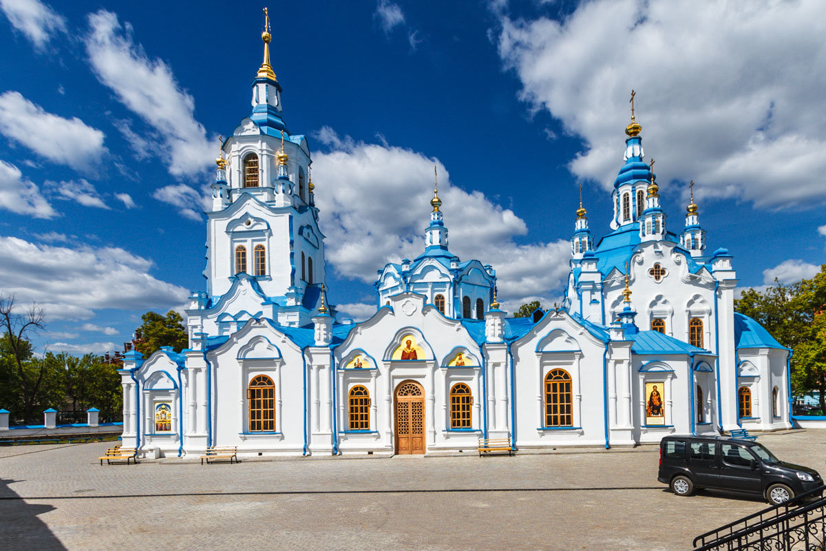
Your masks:
<instances>
[{"instance_id":1,"label":"wide low white cloud above the trees left of the bell tower","mask_svg":"<svg viewBox=\"0 0 826 551\"><path fill-rule=\"evenodd\" d=\"M36 301L48 320L89 319L102 308L171 308L186 301L183 287L150 275L152 261L112 247L37 245L0 237L2 291Z\"/></svg>"}]
</instances>

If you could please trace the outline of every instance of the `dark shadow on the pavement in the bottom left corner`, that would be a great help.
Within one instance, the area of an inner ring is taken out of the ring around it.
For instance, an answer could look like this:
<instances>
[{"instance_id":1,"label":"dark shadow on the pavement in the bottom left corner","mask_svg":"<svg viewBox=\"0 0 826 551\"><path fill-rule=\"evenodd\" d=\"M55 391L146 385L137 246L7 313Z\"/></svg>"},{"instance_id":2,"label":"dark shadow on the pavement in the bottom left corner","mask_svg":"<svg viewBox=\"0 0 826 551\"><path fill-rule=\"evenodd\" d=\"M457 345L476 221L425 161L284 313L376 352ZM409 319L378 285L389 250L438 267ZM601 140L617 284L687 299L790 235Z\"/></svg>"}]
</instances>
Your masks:
<instances>
[{"instance_id":1,"label":"dark shadow on the pavement in the bottom left corner","mask_svg":"<svg viewBox=\"0 0 826 551\"><path fill-rule=\"evenodd\" d=\"M9 487L17 480L0 478L0 549L66 549L37 515L54 511L50 505L30 505Z\"/></svg>"}]
</instances>

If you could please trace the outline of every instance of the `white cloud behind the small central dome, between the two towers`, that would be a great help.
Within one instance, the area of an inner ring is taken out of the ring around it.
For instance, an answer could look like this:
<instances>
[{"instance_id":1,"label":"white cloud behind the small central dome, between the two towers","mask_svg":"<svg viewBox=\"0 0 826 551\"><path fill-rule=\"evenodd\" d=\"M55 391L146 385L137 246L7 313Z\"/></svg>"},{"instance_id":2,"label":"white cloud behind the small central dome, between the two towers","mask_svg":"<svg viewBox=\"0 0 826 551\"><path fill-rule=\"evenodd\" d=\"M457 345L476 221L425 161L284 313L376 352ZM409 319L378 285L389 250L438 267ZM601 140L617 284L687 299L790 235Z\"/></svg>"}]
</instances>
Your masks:
<instances>
[{"instance_id":1,"label":"white cloud behind the small central dome, between the two towers","mask_svg":"<svg viewBox=\"0 0 826 551\"><path fill-rule=\"evenodd\" d=\"M372 283L387 262L413 259L424 250L434 160L326 132L328 143L344 145L316 153L313 160L316 204L328 238L326 259L345 278ZM528 233L525 221L482 192L453 186L447 170L437 164L450 250L463 260L479 259L496 268L503 299L558 294L568 272L568 242L517 245L515 237Z\"/></svg>"}]
</instances>

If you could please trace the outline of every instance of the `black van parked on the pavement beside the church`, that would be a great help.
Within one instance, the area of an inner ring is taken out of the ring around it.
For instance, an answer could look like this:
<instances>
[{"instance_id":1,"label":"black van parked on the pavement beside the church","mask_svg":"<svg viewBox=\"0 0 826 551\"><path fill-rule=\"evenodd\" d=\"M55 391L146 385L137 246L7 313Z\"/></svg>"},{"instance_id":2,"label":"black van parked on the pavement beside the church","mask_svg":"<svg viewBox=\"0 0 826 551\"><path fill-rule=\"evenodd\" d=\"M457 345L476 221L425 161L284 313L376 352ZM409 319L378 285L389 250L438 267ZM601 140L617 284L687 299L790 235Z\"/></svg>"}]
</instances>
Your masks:
<instances>
[{"instance_id":1,"label":"black van parked on the pavement beside the church","mask_svg":"<svg viewBox=\"0 0 826 551\"><path fill-rule=\"evenodd\" d=\"M677 496L697 488L747 492L782 503L823 486L813 468L786 463L750 440L724 436L666 436L660 442L657 480Z\"/></svg>"}]
</instances>

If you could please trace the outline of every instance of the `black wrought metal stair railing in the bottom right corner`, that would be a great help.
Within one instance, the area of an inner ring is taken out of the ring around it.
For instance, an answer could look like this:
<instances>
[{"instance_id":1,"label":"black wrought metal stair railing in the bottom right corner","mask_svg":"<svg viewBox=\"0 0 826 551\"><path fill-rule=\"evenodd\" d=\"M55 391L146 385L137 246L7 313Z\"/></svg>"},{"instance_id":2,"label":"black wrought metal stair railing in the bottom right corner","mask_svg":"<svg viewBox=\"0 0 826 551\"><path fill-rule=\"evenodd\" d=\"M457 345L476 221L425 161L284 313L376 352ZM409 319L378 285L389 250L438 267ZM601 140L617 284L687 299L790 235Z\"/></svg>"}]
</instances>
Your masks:
<instances>
[{"instance_id":1,"label":"black wrought metal stair railing in the bottom right corner","mask_svg":"<svg viewBox=\"0 0 826 551\"><path fill-rule=\"evenodd\" d=\"M826 551L826 486L701 534L694 551Z\"/></svg>"}]
</instances>

